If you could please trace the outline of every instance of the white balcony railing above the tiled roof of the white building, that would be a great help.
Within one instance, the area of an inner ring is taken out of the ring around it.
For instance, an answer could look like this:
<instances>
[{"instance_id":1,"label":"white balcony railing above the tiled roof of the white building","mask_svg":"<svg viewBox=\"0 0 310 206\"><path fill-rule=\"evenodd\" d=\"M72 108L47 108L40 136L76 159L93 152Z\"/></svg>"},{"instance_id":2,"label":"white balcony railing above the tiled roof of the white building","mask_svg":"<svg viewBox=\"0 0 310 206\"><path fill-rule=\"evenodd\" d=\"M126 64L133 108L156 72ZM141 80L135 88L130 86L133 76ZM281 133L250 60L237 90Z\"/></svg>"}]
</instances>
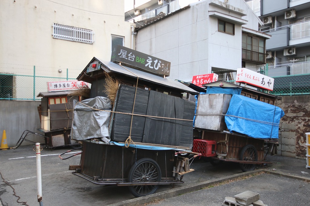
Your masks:
<instances>
[{"instance_id":1,"label":"white balcony railing above the tiled roof of the white building","mask_svg":"<svg viewBox=\"0 0 310 206\"><path fill-rule=\"evenodd\" d=\"M135 18L128 20L128 22L134 23L134 22L145 20L145 19L149 19L149 18L152 18L152 17L158 15L160 12L163 12L165 14L169 14L171 12L174 12L174 11L177 11L181 8L184 8L185 6L188 6L188 4L190 4L190 3L198 2L198 1L199 0L187 0L187 1L175 0L175 1L169 2L167 4L164 4L162 6L159 6L158 8L153 9L147 13L136 16Z\"/></svg>"}]
</instances>

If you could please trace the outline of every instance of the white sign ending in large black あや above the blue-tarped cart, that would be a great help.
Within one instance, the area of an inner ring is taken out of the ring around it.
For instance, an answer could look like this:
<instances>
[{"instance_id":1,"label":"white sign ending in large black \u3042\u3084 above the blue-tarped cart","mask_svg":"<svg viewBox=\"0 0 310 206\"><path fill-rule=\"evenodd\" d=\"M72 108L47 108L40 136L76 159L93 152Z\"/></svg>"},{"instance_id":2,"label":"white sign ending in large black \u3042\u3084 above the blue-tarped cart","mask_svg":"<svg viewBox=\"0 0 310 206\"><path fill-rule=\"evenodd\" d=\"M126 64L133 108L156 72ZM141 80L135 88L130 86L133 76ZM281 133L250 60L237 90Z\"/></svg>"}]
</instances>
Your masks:
<instances>
[{"instance_id":1,"label":"white sign ending in large black \u3042\u3084 above the blue-tarped cart","mask_svg":"<svg viewBox=\"0 0 310 206\"><path fill-rule=\"evenodd\" d=\"M237 69L236 82L243 82L272 91L274 79L246 68L239 68Z\"/></svg>"}]
</instances>

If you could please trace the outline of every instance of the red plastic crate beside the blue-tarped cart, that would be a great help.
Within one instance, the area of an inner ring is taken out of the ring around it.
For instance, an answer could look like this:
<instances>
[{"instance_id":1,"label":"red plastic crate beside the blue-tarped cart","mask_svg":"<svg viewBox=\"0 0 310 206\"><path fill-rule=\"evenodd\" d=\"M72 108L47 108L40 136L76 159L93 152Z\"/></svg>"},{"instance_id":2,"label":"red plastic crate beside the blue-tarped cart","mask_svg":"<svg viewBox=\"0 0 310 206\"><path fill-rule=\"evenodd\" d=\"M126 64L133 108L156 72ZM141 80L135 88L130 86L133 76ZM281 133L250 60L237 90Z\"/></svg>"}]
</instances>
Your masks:
<instances>
[{"instance_id":1,"label":"red plastic crate beside the blue-tarped cart","mask_svg":"<svg viewBox=\"0 0 310 206\"><path fill-rule=\"evenodd\" d=\"M216 155L216 142L207 139L194 139L193 152L201 153L204 157L214 157Z\"/></svg>"}]
</instances>

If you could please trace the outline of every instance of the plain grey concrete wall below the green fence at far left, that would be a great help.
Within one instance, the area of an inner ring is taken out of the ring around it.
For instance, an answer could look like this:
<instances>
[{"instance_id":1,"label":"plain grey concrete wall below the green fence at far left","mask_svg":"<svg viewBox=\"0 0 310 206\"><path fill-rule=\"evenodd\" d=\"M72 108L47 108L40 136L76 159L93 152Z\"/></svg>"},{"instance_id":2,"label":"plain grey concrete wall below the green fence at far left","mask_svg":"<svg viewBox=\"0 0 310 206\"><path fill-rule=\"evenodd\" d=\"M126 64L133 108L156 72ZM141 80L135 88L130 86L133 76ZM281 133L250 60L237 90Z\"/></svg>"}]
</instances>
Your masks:
<instances>
[{"instance_id":1,"label":"plain grey concrete wall below the green fence at far left","mask_svg":"<svg viewBox=\"0 0 310 206\"><path fill-rule=\"evenodd\" d=\"M41 101L7 101L0 100L0 139L3 130L6 131L7 145L16 145L25 130L40 133L37 129L41 127L37 107ZM44 143L44 139L38 135L29 135L27 139L33 142ZM23 142L22 145L32 143Z\"/></svg>"}]
</instances>

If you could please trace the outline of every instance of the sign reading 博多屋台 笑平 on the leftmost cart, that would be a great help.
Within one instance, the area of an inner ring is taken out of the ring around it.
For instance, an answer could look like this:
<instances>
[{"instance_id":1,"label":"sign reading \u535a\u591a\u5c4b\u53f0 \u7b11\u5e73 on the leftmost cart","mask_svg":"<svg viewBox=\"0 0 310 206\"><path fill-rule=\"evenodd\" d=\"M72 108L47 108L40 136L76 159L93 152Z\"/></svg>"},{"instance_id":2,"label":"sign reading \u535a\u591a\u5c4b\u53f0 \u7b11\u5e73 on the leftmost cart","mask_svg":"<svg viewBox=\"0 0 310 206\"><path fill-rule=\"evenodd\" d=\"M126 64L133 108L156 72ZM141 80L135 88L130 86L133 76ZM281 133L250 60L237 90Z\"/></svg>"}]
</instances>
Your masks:
<instances>
[{"instance_id":1,"label":"sign reading \u535a\u591a\u5c4b\u53f0 \u7b11\u5e73 on the leftmost cart","mask_svg":"<svg viewBox=\"0 0 310 206\"><path fill-rule=\"evenodd\" d=\"M72 81L56 81L56 82L47 82L47 91L64 91L64 90L74 90L81 88L83 86L88 86L87 82L72 80Z\"/></svg>"}]
</instances>

